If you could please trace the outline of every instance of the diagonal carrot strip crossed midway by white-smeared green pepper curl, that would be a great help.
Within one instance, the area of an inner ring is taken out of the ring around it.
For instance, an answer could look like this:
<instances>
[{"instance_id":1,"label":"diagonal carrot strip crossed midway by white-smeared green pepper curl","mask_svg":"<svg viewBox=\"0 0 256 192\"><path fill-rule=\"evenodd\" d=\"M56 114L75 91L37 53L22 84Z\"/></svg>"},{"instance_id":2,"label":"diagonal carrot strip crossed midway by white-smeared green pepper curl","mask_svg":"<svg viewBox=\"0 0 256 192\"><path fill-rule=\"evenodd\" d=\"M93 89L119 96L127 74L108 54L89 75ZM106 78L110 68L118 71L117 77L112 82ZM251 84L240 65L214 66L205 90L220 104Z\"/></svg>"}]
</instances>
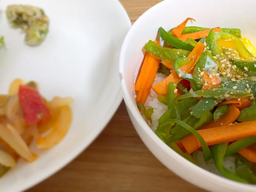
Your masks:
<instances>
[{"instance_id":1,"label":"diagonal carrot strip crossed midway by white-smeared green pepper curl","mask_svg":"<svg viewBox=\"0 0 256 192\"><path fill-rule=\"evenodd\" d=\"M189 73L197 63L198 59L201 57L203 50L205 49L205 46L198 42L195 48L191 51L188 58L193 58L193 61L181 66L181 70L185 71L185 73ZM173 70L173 72L163 81L158 83L157 85L154 85L152 89L159 95L166 94L167 91L167 85L170 82L174 82L176 85L182 80L181 77Z\"/></svg>"}]
</instances>

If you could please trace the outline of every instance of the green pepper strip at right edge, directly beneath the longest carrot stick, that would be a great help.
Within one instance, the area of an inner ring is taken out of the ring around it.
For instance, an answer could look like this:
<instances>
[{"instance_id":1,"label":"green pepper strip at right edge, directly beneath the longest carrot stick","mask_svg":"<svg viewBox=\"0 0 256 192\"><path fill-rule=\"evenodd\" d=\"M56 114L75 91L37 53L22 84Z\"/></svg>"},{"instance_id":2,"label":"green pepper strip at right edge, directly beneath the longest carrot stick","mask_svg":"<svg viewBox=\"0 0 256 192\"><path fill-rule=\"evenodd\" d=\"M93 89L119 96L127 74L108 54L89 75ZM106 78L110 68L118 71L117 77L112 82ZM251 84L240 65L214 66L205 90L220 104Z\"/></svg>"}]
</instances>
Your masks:
<instances>
[{"instance_id":1,"label":"green pepper strip at right edge, directly beneath the longest carrot stick","mask_svg":"<svg viewBox=\"0 0 256 192\"><path fill-rule=\"evenodd\" d=\"M228 157L230 155L233 155L234 153L237 153L239 150L248 147L252 145L253 143L256 143L256 137L248 137L244 139L239 139L235 141L234 143L231 143L229 146L227 146L227 150L225 153L225 157Z\"/></svg>"}]
</instances>

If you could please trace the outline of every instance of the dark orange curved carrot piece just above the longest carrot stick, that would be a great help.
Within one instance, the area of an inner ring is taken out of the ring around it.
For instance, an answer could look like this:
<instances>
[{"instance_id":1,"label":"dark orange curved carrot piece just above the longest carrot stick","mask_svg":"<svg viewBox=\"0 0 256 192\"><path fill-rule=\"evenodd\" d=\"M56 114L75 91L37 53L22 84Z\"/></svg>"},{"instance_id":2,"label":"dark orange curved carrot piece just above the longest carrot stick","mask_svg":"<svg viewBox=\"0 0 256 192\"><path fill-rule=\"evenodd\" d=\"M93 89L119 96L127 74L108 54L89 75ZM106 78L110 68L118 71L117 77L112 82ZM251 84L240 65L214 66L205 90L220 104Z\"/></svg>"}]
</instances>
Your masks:
<instances>
[{"instance_id":1,"label":"dark orange curved carrot piece just above the longest carrot stick","mask_svg":"<svg viewBox=\"0 0 256 192\"><path fill-rule=\"evenodd\" d=\"M234 105L231 105L229 108L229 111L225 115L223 115L221 118L219 118L218 121L214 121L214 119L212 119L202 129L210 129L213 127L220 127L220 126L229 125L230 123L234 123L235 120L238 118L239 114L240 114L239 109L237 109L237 107L235 107Z\"/></svg>"}]
</instances>

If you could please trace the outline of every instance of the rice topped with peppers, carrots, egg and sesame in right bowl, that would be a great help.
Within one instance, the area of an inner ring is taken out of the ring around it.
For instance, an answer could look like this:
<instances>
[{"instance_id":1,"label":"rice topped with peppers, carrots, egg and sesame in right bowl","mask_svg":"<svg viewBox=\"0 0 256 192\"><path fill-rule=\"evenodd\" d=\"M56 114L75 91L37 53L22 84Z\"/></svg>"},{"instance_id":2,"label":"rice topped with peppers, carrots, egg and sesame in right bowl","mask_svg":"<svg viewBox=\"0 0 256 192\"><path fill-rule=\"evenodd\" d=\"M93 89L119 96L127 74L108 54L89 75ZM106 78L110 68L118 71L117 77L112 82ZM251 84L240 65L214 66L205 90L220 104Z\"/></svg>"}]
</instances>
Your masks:
<instances>
[{"instance_id":1,"label":"rice topped with peppers, carrots, egg and sesame in right bowl","mask_svg":"<svg viewBox=\"0 0 256 192\"><path fill-rule=\"evenodd\" d=\"M256 49L240 29L186 27L148 41L135 99L155 134L223 177L256 184ZM194 20L195 21L195 20Z\"/></svg>"}]
</instances>

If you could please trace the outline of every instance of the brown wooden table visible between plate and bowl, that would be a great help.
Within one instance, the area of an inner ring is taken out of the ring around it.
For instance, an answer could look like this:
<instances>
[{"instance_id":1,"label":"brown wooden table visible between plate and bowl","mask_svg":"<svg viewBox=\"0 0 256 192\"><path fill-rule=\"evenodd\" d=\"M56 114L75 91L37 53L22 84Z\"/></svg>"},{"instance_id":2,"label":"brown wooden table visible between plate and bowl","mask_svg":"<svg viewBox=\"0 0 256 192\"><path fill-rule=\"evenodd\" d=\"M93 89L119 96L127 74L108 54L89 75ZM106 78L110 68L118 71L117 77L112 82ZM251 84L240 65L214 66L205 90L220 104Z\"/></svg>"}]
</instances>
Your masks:
<instances>
[{"instance_id":1,"label":"brown wooden table visible between plate and bowl","mask_svg":"<svg viewBox=\"0 0 256 192\"><path fill-rule=\"evenodd\" d=\"M131 22L161 0L121 0ZM79 157L27 192L197 191L167 169L135 131L125 104Z\"/></svg>"}]
</instances>

